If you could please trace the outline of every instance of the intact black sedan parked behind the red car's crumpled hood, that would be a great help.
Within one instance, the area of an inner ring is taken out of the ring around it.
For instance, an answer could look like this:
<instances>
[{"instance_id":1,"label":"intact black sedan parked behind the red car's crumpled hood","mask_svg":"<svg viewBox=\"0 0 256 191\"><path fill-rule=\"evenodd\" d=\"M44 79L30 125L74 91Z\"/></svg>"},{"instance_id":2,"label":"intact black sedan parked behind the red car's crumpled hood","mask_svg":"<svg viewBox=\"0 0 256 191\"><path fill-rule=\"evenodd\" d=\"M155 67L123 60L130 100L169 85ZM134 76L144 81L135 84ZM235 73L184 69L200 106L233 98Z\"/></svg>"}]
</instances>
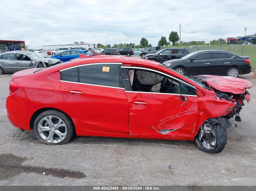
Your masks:
<instances>
[{"instance_id":1,"label":"intact black sedan parked behind the red car's crumpled hood","mask_svg":"<svg viewBox=\"0 0 256 191\"><path fill-rule=\"evenodd\" d=\"M249 56L219 50L201 50L180 59L169 60L163 65L189 75L220 75L238 77L251 72Z\"/></svg>"}]
</instances>

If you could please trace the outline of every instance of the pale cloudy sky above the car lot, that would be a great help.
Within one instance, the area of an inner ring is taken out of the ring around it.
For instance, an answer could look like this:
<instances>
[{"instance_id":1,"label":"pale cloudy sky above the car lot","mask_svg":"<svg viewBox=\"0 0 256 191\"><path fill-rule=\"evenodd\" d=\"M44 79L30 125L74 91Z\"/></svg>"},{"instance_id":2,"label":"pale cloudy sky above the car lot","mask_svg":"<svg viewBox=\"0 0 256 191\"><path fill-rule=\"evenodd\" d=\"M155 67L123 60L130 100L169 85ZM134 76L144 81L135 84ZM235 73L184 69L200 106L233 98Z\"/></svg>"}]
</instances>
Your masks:
<instances>
[{"instance_id":1,"label":"pale cloudy sky above the car lot","mask_svg":"<svg viewBox=\"0 0 256 191\"><path fill-rule=\"evenodd\" d=\"M0 0L1 40L30 48L84 41L156 46L171 31L181 40L213 40L256 33L255 0Z\"/></svg>"}]
</instances>

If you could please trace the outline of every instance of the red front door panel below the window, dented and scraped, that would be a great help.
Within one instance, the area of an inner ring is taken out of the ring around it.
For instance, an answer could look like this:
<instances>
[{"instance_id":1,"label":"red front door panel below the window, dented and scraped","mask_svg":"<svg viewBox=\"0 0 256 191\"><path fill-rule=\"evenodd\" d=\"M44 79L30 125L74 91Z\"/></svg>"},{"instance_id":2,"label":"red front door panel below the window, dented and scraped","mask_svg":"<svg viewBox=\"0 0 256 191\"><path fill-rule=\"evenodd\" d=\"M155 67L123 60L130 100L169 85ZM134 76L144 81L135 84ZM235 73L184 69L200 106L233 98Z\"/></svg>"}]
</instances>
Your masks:
<instances>
[{"instance_id":1,"label":"red front door panel below the window, dented and scraped","mask_svg":"<svg viewBox=\"0 0 256 191\"><path fill-rule=\"evenodd\" d=\"M129 133L145 138L193 139L198 108L196 96L126 91Z\"/></svg>"}]
</instances>

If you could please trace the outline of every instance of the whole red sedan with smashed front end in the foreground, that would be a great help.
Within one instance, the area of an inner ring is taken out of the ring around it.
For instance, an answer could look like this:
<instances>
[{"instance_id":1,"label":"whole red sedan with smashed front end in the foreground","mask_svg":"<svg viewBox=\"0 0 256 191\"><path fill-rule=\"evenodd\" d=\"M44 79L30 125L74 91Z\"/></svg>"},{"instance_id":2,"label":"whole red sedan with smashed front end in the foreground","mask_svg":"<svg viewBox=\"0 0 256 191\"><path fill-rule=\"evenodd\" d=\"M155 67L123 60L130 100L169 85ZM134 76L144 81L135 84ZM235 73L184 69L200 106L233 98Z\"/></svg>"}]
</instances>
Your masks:
<instances>
[{"instance_id":1,"label":"whole red sedan with smashed front end in the foreground","mask_svg":"<svg viewBox=\"0 0 256 191\"><path fill-rule=\"evenodd\" d=\"M42 143L76 135L195 140L209 153L226 144L228 119L250 100L250 81L188 76L158 62L93 56L16 72L6 101L8 119L34 129Z\"/></svg>"}]
</instances>

